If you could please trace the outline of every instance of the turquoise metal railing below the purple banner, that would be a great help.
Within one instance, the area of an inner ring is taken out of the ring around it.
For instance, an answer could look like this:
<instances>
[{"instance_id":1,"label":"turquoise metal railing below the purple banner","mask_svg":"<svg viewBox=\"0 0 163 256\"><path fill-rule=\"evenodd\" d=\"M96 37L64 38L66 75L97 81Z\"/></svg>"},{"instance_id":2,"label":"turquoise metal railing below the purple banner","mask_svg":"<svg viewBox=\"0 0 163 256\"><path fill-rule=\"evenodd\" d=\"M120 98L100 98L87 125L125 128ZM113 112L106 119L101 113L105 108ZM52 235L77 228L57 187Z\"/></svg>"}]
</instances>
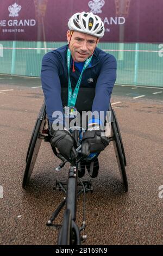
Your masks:
<instances>
[{"instance_id":1,"label":"turquoise metal railing below the purple banner","mask_svg":"<svg viewBox=\"0 0 163 256\"><path fill-rule=\"evenodd\" d=\"M0 41L0 73L40 76L45 53L66 42ZM163 87L163 44L99 43L117 59L117 84Z\"/></svg>"}]
</instances>

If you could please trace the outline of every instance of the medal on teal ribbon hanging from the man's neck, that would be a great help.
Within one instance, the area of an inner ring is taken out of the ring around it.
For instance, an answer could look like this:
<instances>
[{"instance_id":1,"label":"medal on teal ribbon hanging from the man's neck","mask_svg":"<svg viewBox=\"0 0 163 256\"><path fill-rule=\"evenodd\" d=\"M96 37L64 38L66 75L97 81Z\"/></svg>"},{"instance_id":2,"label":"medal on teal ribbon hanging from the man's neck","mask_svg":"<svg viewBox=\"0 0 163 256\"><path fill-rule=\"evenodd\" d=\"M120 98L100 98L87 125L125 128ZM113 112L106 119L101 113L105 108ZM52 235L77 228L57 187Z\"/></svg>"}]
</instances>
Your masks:
<instances>
[{"instance_id":1,"label":"medal on teal ribbon hanging from the man's neck","mask_svg":"<svg viewBox=\"0 0 163 256\"><path fill-rule=\"evenodd\" d=\"M76 105L77 96L79 92L80 83L82 81L83 72L89 66L91 62L92 56L90 58L87 58L85 60L85 64L83 67L83 70L79 76L78 82L76 84L76 88L74 89L74 92L72 93L72 87L71 87L71 81L70 81L70 60L71 60L71 51L68 48L67 49L67 68L68 68L68 106L64 107L64 115L65 117L74 118L77 116L77 108L74 107Z\"/></svg>"}]
</instances>

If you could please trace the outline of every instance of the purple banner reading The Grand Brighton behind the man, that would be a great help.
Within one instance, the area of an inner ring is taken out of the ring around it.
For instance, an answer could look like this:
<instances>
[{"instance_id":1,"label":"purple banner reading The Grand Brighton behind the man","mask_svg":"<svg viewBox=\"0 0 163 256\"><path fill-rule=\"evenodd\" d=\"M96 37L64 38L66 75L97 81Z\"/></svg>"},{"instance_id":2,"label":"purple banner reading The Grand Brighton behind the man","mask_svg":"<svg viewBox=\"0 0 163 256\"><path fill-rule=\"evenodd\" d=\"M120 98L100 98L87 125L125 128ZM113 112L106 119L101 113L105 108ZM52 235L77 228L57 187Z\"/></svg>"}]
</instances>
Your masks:
<instances>
[{"instance_id":1,"label":"purple banner reading The Grand Brighton behind the man","mask_svg":"<svg viewBox=\"0 0 163 256\"><path fill-rule=\"evenodd\" d=\"M162 0L1 0L0 40L66 41L68 18L101 17L107 42L163 42Z\"/></svg>"}]
</instances>

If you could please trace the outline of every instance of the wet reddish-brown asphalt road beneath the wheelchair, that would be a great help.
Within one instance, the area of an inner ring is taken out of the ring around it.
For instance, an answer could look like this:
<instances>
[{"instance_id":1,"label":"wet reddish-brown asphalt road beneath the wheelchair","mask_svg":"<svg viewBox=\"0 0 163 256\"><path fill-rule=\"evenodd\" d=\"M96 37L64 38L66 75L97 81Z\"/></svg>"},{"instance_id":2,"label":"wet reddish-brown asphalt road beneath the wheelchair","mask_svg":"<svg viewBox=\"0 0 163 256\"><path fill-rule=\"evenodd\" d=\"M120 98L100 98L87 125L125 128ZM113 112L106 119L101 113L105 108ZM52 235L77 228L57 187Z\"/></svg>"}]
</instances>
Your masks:
<instances>
[{"instance_id":1,"label":"wet reddish-brown asphalt road beneath the wheelchair","mask_svg":"<svg viewBox=\"0 0 163 256\"><path fill-rule=\"evenodd\" d=\"M42 142L30 186L22 190L29 139L43 102L39 86L37 78L0 76L1 245L57 244L59 227L49 228L46 222L64 197L53 187L56 179L66 180L68 165L55 171L60 160L49 143ZM132 88L115 86L111 99L126 151L129 192L124 192L110 143L99 156L93 193L86 195L85 245L163 244L163 89ZM77 208L80 225L83 197ZM62 215L63 211L55 223L61 223Z\"/></svg>"}]
</instances>

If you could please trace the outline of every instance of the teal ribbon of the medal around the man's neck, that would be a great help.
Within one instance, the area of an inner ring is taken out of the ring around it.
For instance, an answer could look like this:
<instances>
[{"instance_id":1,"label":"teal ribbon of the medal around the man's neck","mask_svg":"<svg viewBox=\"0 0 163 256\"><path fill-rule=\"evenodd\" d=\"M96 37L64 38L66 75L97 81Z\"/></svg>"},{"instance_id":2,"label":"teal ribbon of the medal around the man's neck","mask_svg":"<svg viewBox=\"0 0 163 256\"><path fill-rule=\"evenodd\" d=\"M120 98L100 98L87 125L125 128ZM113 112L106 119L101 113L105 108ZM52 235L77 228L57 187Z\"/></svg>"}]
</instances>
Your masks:
<instances>
[{"instance_id":1,"label":"teal ribbon of the medal around the man's neck","mask_svg":"<svg viewBox=\"0 0 163 256\"><path fill-rule=\"evenodd\" d=\"M77 101L77 96L78 96L78 92L79 92L79 87L80 87L80 83L82 81L82 75L84 70L87 68L87 66L89 66L92 56L90 58L87 58L85 60L85 64L83 67L83 70L79 76L78 82L76 84L76 88L74 89L74 92L72 93L72 87L71 87L71 81L70 81L70 59L71 59L71 51L68 48L67 49L67 68L68 68L68 107L74 107L76 105L76 101Z\"/></svg>"}]
</instances>

